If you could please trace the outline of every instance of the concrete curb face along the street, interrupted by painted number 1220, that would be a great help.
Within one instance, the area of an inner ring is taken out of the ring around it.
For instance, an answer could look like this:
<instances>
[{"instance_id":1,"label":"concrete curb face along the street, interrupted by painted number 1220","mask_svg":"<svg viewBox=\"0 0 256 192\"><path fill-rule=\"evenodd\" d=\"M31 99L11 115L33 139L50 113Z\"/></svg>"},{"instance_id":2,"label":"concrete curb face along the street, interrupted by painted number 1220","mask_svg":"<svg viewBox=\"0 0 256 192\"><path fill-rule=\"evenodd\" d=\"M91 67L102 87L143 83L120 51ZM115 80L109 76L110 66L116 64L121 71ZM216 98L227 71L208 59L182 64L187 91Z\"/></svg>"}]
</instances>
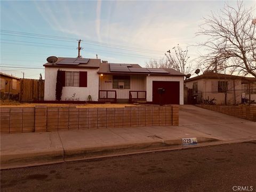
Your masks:
<instances>
[{"instance_id":1,"label":"concrete curb face along the street, interrupted by painted number 1220","mask_svg":"<svg viewBox=\"0 0 256 192\"><path fill-rule=\"evenodd\" d=\"M198 143L220 141L215 138L197 138ZM200 147L200 146L198 146ZM24 151L20 153L1 153L1 170L27 166L38 166L45 164L63 163L70 161L81 161L86 159L97 159L122 155L151 153L158 150L182 149L181 139L142 141L140 143L130 142L123 145L59 148L37 151Z\"/></svg>"}]
</instances>

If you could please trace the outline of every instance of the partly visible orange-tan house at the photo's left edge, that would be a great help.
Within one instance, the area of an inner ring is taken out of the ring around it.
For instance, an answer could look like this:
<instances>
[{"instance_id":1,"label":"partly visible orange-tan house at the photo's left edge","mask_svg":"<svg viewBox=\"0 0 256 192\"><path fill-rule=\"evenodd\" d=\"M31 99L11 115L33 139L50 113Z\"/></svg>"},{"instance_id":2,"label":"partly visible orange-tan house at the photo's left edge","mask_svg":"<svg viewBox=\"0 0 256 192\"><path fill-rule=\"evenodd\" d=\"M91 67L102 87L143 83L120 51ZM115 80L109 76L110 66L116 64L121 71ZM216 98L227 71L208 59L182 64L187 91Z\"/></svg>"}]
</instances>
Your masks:
<instances>
[{"instance_id":1,"label":"partly visible orange-tan house at the photo's left edge","mask_svg":"<svg viewBox=\"0 0 256 192\"><path fill-rule=\"evenodd\" d=\"M3 95L5 95L6 98L8 98L8 96L10 98L18 97L20 92L20 78L0 72L0 79L1 97L3 97Z\"/></svg>"}]
</instances>

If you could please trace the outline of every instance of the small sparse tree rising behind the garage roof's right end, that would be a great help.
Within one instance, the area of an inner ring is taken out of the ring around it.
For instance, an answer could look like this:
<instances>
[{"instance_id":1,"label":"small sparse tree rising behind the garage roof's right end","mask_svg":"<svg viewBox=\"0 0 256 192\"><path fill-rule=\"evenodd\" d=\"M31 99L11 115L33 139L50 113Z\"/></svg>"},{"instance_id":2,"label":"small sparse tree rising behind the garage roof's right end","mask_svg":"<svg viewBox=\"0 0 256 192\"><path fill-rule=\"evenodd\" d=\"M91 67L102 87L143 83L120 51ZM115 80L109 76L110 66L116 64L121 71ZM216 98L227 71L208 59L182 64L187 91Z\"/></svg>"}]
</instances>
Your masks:
<instances>
[{"instance_id":1,"label":"small sparse tree rising behind the garage roof's right end","mask_svg":"<svg viewBox=\"0 0 256 192\"><path fill-rule=\"evenodd\" d=\"M171 51L165 53L170 68L180 71L181 73L188 75L191 72L191 63L188 62L190 58L188 56L188 47L183 51L179 44L172 48L175 51L175 54L172 55Z\"/></svg>"}]
</instances>

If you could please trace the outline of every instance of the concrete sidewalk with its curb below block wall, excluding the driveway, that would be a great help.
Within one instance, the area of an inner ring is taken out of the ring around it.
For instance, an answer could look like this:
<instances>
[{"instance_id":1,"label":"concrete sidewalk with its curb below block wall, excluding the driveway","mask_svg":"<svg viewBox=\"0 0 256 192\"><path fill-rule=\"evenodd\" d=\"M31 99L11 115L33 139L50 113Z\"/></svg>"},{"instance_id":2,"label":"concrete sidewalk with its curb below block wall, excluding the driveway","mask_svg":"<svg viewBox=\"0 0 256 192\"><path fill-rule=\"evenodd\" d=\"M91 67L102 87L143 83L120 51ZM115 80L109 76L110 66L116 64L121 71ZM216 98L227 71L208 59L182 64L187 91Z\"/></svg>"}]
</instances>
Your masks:
<instances>
[{"instance_id":1,"label":"concrete sidewalk with its curb below block wall, excluding the driveway","mask_svg":"<svg viewBox=\"0 0 256 192\"><path fill-rule=\"evenodd\" d=\"M179 126L2 134L1 169L181 146L188 137L217 140Z\"/></svg>"}]
</instances>

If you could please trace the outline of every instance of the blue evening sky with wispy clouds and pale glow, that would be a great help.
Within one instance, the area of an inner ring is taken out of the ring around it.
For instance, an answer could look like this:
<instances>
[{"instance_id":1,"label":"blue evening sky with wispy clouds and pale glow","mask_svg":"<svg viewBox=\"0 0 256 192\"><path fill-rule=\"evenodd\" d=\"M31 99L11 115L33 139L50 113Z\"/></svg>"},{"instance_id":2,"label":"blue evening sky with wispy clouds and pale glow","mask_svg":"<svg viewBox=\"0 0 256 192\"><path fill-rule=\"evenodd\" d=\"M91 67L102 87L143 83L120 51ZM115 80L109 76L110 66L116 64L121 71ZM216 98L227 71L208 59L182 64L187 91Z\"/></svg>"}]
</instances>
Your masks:
<instances>
[{"instance_id":1,"label":"blue evening sky with wispy clouds and pale glow","mask_svg":"<svg viewBox=\"0 0 256 192\"><path fill-rule=\"evenodd\" d=\"M179 44L196 67L198 26L227 1L1 1L1 72L44 78L46 58L81 55L112 63L138 63ZM235 5L236 1L228 4ZM255 1L245 1L246 7Z\"/></svg>"}]
</instances>

